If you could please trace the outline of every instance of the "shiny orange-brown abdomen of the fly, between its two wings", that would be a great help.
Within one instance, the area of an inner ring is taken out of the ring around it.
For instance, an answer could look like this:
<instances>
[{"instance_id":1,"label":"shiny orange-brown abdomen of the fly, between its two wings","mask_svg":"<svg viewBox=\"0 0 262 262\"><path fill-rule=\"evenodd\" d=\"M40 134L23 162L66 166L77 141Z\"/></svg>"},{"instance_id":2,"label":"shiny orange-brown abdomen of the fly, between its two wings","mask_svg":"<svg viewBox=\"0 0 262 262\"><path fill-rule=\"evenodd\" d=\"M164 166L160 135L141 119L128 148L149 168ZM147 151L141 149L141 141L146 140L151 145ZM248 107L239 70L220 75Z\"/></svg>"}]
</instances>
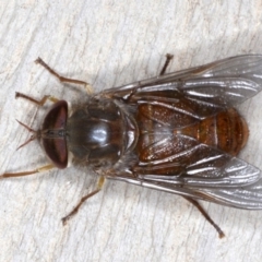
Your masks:
<instances>
[{"instance_id":1,"label":"shiny orange-brown abdomen of the fly, between its two wings","mask_svg":"<svg viewBox=\"0 0 262 262\"><path fill-rule=\"evenodd\" d=\"M249 131L236 109L196 119L188 114L192 111L188 105L179 106L139 106L135 152L141 174L183 174L191 165L217 156L217 148L236 156L245 146ZM216 165L223 166L228 159L225 155Z\"/></svg>"}]
</instances>

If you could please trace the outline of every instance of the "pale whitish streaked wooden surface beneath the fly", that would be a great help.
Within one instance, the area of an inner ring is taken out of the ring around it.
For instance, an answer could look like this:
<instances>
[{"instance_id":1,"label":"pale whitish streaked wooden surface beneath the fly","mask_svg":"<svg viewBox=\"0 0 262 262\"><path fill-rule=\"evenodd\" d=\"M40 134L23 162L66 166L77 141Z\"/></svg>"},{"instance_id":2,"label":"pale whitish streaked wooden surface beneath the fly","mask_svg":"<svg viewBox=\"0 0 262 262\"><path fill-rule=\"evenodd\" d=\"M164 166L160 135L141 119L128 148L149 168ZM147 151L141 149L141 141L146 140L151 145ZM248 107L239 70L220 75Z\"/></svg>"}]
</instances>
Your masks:
<instances>
[{"instance_id":1,"label":"pale whitish streaked wooden surface beneath the fly","mask_svg":"<svg viewBox=\"0 0 262 262\"><path fill-rule=\"evenodd\" d=\"M128 3L129 2L129 3ZM34 63L40 56L95 91L156 75L165 53L175 71L221 58L262 52L261 1L2 1L0 5L0 174L45 163L19 119L37 128L45 110L15 91L76 100ZM245 103L250 140L241 157L262 168L262 95ZM108 182L63 227L63 217L95 187L69 168L0 181L0 261L262 261L262 211L204 203L216 231L183 199Z\"/></svg>"}]
</instances>

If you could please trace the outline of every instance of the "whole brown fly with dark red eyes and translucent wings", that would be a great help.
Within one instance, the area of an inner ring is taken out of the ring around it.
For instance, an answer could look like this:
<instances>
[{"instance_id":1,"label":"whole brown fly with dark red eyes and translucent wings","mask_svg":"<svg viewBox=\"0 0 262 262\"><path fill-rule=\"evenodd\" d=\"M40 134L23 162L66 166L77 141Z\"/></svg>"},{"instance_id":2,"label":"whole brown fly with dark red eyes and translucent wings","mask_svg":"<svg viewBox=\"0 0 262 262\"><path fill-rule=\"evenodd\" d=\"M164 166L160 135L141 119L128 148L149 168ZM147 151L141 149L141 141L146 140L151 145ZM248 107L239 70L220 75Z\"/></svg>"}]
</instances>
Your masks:
<instances>
[{"instance_id":1,"label":"whole brown fly with dark red eyes and translucent wings","mask_svg":"<svg viewBox=\"0 0 262 262\"><path fill-rule=\"evenodd\" d=\"M227 206L261 210L261 171L239 159L249 131L234 108L262 88L262 56L245 55L120 87L85 95L69 107L66 100L44 96L38 106L52 103L39 130L20 122L38 140L49 164L35 170L5 172L0 178L22 177L72 164L85 166L98 178L95 191L83 196L62 218L63 224L103 188L106 179L120 180L183 196L215 227L199 200ZM40 58L37 63L61 82L88 83L59 75ZM20 146L20 147L21 147Z\"/></svg>"}]
</instances>

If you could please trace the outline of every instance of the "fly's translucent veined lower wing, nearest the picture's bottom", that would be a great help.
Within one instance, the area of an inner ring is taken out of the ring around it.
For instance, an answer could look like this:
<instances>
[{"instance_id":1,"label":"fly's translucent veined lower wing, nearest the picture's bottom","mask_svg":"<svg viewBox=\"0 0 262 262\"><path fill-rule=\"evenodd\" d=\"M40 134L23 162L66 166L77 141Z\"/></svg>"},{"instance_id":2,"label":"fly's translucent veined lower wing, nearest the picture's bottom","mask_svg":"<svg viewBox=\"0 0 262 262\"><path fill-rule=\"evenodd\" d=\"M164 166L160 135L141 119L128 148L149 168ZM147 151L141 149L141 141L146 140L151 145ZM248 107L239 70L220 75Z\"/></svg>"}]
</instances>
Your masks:
<instances>
[{"instance_id":1,"label":"fly's translucent veined lower wing, nearest the picture's bottom","mask_svg":"<svg viewBox=\"0 0 262 262\"><path fill-rule=\"evenodd\" d=\"M179 140L188 145L189 139ZM184 162L187 165L183 165ZM123 170L117 169L109 178L234 207L262 209L261 171L204 144L191 144L178 154L152 160L150 166L140 163L133 169L134 176L123 174Z\"/></svg>"}]
</instances>

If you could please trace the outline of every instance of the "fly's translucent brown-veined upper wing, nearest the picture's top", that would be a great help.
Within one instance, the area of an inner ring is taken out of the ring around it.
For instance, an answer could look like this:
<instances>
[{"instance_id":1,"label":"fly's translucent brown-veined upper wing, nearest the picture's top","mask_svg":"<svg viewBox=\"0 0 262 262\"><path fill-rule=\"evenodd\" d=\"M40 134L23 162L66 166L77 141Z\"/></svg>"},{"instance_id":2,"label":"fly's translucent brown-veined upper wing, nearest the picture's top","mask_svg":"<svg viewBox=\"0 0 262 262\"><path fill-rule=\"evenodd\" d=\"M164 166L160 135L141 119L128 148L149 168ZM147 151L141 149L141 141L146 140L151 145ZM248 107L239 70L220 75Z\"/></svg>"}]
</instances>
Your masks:
<instances>
[{"instance_id":1,"label":"fly's translucent brown-veined upper wing, nearest the picture's top","mask_svg":"<svg viewBox=\"0 0 262 262\"><path fill-rule=\"evenodd\" d=\"M103 92L128 104L187 103L203 119L234 107L262 88L262 56L245 55ZM178 106L179 107L179 106Z\"/></svg>"}]
</instances>

